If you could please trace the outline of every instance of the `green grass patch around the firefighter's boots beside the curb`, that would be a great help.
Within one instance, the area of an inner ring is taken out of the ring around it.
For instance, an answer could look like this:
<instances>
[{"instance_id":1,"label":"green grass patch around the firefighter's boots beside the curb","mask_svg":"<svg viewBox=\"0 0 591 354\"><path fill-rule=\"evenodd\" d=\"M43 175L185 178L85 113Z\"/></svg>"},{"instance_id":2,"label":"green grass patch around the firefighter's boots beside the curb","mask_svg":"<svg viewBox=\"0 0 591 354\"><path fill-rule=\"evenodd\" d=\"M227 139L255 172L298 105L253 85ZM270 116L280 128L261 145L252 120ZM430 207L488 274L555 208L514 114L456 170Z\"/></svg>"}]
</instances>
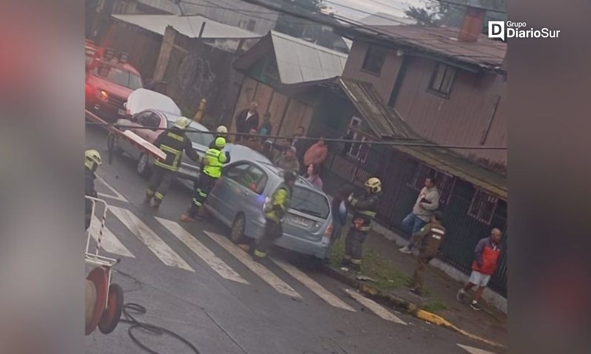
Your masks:
<instances>
[{"instance_id":1,"label":"green grass patch around the firefighter's boots beside the curb","mask_svg":"<svg viewBox=\"0 0 591 354\"><path fill-rule=\"evenodd\" d=\"M329 253L330 267L340 268L340 261L345 254L345 232L343 236L335 242ZM361 273L376 282L375 285L382 290L392 290L404 287L410 284L411 277L399 271L394 264L378 255L371 249L363 249L363 261L361 263Z\"/></svg>"}]
</instances>

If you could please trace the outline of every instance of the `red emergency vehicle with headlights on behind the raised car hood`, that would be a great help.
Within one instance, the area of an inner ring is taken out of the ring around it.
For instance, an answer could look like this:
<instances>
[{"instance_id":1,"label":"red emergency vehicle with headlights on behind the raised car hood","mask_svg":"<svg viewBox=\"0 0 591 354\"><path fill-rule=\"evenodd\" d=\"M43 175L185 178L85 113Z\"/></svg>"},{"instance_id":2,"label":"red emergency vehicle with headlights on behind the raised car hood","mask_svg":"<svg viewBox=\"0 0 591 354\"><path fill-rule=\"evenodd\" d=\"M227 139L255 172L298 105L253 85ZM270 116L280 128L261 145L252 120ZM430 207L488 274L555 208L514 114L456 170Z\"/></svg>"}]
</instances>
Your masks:
<instances>
[{"instance_id":1,"label":"red emergency vehicle with headlights on behind the raised car hood","mask_svg":"<svg viewBox=\"0 0 591 354\"><path fill-rule=\"evenodd\" d=\"M99 49L92 59L87 58L86 109L114 123L119 118L125 118L124 103L132 91L142 87L142 79L138 70L127 63L98 58L100 52Z\"/></svg>"}]
</instances>

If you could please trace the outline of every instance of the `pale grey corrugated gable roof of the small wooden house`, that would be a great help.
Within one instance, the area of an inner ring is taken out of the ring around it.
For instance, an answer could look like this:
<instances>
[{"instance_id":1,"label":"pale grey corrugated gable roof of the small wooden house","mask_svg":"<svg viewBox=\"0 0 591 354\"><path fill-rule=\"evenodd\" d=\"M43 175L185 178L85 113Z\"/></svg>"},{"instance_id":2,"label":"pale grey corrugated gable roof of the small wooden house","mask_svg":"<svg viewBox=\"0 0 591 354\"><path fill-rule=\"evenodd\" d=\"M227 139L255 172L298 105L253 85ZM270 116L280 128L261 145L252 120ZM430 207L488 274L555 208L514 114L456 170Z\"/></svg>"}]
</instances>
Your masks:
<instances>
[{"instance_id":1,"label":"pale grey corrugated gable roof of the small wooden house","mask_svg":"<svg viewBox=\"0 0 591 354\"><path fill-rule=\"evenodd\" d=\"M271 31L281 83L310 82L340 76L347 54Z\"/></svg>"}]
</instances>

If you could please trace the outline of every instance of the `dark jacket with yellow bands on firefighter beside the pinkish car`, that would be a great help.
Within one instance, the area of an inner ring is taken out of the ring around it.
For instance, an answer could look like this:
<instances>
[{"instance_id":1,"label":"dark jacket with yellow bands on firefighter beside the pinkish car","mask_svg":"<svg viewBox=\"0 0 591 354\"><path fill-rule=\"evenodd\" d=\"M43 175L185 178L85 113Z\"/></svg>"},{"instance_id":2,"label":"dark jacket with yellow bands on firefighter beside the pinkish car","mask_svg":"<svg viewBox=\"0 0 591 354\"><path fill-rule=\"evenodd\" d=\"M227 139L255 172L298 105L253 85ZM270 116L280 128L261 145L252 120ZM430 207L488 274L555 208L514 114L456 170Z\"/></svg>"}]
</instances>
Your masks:
<instances>
[{"instance_id":1,"label":"dark jacket with yellow bands on firefighter beside the pinkish car","mask_svg":"<svg viewBox=\"0 0 591 354\"><path fill-rule=\"evenodd\" d=\"M193 161L199 161L199 155L193 150L191 141L184 134L180 128L173 127L170 130L165 130L158 135L154 141L154 145L166 154L164 161L156 160L154 165L165 168L166 170L176 172L178 166L181 164L183 151Z\"/></svg>"}]
</instances>

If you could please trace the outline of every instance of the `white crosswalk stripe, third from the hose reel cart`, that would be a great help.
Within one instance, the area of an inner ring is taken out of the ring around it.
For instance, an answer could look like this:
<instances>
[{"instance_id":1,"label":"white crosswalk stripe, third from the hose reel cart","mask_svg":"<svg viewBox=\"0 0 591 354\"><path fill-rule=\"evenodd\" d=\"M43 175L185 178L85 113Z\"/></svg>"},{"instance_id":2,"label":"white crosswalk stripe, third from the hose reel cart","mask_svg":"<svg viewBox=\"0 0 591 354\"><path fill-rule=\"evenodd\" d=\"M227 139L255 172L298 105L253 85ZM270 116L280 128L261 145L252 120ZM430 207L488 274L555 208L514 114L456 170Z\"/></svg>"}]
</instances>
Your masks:
<instances>
[{"instance_id":1,"label":"white crosswalk stripe, third from the hose reel cart","mask_svg":"<svg viewBox=\"0 0 591 354\"><path fill-rule=\"evenodd\" d=\"M248 281L244 280L234 269L230 268L222 259L218 258L212 251L209 250L203 243L199 242L189 232L183 229L182 226L178 225L177 222L161 219L156 217L156 220L160 222L165 228L168 229L176 238L183 242L187 247L191 249L199 258L206 262L209 267L217 272L222 278L240 282L242 284L248 284Z\"/></svg>"}]
</instances>

